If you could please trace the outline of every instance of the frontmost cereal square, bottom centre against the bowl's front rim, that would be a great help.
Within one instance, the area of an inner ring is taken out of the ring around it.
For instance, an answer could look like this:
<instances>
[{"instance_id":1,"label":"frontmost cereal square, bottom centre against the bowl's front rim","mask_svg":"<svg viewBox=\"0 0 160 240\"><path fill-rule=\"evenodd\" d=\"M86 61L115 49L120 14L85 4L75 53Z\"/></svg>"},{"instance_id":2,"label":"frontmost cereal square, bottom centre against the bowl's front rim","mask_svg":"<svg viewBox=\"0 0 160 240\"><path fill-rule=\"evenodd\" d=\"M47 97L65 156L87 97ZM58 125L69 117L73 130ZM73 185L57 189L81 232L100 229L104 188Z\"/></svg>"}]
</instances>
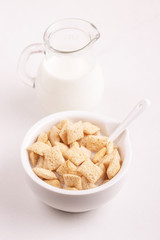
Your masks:
<instances>
[{"instance_id":1,"label":"frontmost cereal square, bottom centre against the bowl's front rim","mask_svg":"<svg viewBox=\"0 0 160 240\"><path fill-rule=\"evenodd\" d=\"M73 174L64 174L63 178L67 187L75 187L78 190L82 189L81 177Z\"/></svg>"}]
</instances>

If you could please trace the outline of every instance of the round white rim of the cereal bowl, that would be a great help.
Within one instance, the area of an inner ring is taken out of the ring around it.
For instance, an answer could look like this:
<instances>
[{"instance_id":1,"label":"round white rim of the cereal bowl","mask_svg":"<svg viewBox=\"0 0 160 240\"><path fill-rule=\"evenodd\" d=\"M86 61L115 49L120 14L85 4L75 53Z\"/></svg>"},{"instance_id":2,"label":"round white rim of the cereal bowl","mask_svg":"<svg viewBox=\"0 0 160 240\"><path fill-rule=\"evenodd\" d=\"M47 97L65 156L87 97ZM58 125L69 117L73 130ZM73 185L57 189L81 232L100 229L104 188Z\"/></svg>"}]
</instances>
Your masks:
<instances>
[{"instance_id":1,"label":"round white rim of the cereal bowl","mask_svg":"<svg viewBox=\"0 0 160 240\"><path fill-rule=\"evenodd\" d=\"M37 130L39 130L40 128L44 127L47 123L50 123L51 120L53 121L54 118L62 118L62 116L66 116L63 119L66 119L68 115L68 118L70 117L79 117L79 115L82 115L82 118L87 118L91 117L94 118L95 120L98 121L102 121L102 122L106 122L106 123L116 123L118 124L118 121L116 121L115 119L109 118L107 116L105 116L104 114L100 114L100 113L93 113L93 112L88 112L88 111L63 111L63 112L57 112L57 113L53 113L50 114L42 119L40 119L39 121L37 121L25 134L22 144L21 144L21 151L20 151L20 155L21 155L21 163L22 166L25 170L25 173L38 185L40 185L41 187L51 191L51 192L55 192L57 194L62 194L62 195L77 195L77 196L82 196L82 195L91 195L97 192L101 192L104 191L105 189L108 189L110 187L112 187L113 185L115 185L117 182L119 182L121 180L121 178L126 174L126 172L128 171L128 168L130 166L131 163L131 158L132 158L132 148L131 148L131 141L130 141L130 136L129 136L129 131L128 129L125 130L125 141L127 141L127 147L128 147L128 151L126 152L126 157L125 159L125 164L123 163L123 167L121 167L120 171L116 174L115 177L113 177L111 180L109 180L107 183L100 185L96 188L92 188L92 189L87 189L87 190L78 190L78 191L71 191L71 190L66 190L66 189L61 189L61 188L56 188L54 186L51 186L47 183L45 183L43 180L41 180L38 176L36 176L36 174L32 171L30 162L29 162L29 157L26 150L26 142L28 141L28 139L31 138L31 136L33 135L33 133L35 133Z\"/></svg>"}]
</instances>

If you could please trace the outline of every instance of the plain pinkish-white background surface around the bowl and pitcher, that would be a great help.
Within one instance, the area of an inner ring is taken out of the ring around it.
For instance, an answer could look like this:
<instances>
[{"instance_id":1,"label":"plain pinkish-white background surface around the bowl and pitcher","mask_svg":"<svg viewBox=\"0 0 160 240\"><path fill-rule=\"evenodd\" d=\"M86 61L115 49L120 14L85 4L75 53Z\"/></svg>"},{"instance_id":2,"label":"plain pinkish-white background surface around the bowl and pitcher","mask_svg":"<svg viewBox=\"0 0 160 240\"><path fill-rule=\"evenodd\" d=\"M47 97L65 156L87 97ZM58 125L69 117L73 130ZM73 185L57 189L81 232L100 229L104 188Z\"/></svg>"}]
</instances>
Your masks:
<instances>
[{"instance_id":1,"label":"plain pinkish-white background surface around the bowl and pitcher","mask_svg":"<svg viewBox=\"0 0 160 240\"><path fill-rule=\"evenodd\" d=\"M122 120L141 98L152 102L130 128L133 161L124 188L83 214L39 202L20 162L26 131L46 113L17 76L18 57L64 17L89 20L101 32L106 115ZM0 239L160 239L160 1L1 0L0 33Z\"/></svg>"}]
</instances>

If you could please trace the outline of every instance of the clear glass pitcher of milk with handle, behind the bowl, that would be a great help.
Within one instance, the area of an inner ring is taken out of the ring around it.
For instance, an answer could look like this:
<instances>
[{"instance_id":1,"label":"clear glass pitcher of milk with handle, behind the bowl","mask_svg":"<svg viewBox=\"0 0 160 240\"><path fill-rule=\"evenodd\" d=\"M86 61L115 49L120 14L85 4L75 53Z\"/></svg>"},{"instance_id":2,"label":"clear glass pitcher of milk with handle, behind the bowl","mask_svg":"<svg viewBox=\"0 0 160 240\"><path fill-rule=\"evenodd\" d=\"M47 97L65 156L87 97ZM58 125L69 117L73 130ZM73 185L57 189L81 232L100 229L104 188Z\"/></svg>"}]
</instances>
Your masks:
<instances>
[{"instance_id":1,"label":"clear glass pitcher of milk with handle, behind the bowl","mask_svg":"<svg viewBox=\"0 0 160 240\"><path fill-rule=\"evenodd\" d=\"M50 25L43 44L32 44L20 56L18 72L35 88L37 98L48 112L64 110L94 111L101 104L104 78L94 43L100 33L90 22L63 19ZM44 55L37 76L26 72L26 62L34 53Z\"/></svg>"}]
</instances>

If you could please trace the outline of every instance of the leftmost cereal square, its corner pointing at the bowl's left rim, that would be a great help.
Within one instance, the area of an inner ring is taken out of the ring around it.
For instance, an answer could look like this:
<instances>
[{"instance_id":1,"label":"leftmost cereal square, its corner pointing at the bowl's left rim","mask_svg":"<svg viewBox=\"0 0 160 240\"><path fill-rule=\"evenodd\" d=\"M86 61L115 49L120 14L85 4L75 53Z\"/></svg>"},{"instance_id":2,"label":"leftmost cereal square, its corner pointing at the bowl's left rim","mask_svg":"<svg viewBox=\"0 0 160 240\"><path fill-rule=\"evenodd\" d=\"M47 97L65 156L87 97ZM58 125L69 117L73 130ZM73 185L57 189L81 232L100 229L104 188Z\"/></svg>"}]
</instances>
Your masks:
<instances>
[{"instance_id":1,"label":"leftmost cereal square, its corner pointing at the bowl's left rim","mask_svg":"<svg viewBox=\"0 0 160 240\"><path fill-rule=\"evenodd\" d=\"M49 149L51 149L50 146L40 141L33 143L31 146L27 148L27 150L33 151L41 156L44 156L45 151Z\"/></svg>"}]
</instances>

